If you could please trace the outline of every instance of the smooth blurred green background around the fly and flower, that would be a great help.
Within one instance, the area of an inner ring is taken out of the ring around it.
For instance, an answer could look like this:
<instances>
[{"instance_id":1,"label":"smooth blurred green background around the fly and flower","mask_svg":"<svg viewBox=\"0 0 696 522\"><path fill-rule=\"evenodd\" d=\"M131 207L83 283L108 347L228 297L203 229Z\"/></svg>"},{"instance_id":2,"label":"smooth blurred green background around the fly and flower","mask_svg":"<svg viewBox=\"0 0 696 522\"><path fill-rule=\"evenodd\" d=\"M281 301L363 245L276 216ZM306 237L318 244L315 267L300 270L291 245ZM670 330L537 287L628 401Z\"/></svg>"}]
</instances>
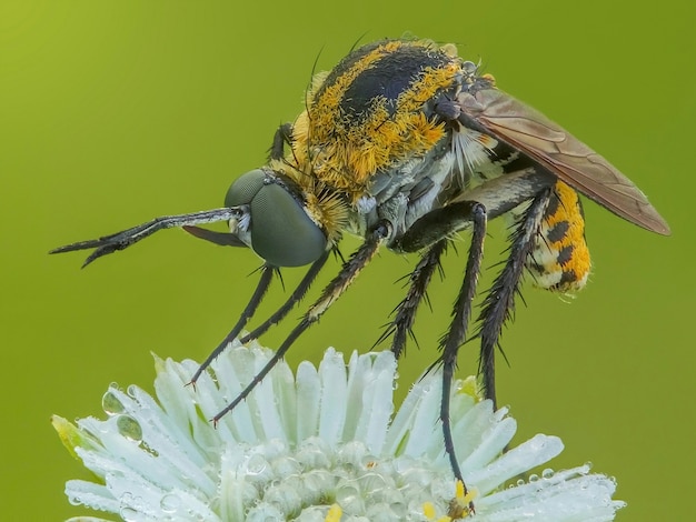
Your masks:
<instances>
[{"instance_id":1,"label":"smooth blurred green background around the fly and flower","mask_svg":"<svg viewBox=\"0 0 696 522\"><path fill-rule=\"evenodd\" d=\"M591 461L617 478L629 503L619 520L694 520L694 19L693 2L678 0L2 1L2 519L83 513L62 490L87 473L50 414L99 414L112 381L149 389L150 351L205 358L259 265L248 251L179 231L84 271L83 255L47 251L218 207L235 177L261 164L278 123L301 110L319 53L329 69L360 38L411 31L480 58L500 88L609 158L670 223L673 237L662 238L586 204L590 282L570 302L526 288L504 335L510 368L499 365L499 398L518 440L563 438L553 468ZM490 235L481 289L505 247L501 225ZM434 285L434 311L419 315L401 393L435 357L466 244ZM290 362L317 361L331 344L367 351L414 262L382 252ZM300 273L286 271L286 287ZM282 297L271 293L262 311ZM278 345L298 317L265 343ZM475 364L469 344L460 373Z\"/></svg>"}]
</instances>

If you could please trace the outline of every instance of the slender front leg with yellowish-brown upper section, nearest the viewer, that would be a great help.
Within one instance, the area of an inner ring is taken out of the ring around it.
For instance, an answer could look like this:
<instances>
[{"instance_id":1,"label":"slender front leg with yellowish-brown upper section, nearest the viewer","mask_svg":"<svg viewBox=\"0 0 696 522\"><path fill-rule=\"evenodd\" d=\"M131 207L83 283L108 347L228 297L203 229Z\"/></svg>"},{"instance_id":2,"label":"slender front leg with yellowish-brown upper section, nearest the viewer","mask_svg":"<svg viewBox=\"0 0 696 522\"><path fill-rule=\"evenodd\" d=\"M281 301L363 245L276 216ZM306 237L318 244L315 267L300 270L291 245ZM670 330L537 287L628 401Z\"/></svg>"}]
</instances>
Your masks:
<instances>
[{"instance_id":1,"label":"slender front leg with yellowish-brown upper section, nearest the viewer","mask_svg":"<svg viewBox=\"0 0 696 522\"><path fill-rule=\"evenodd\" d=\"M338 275L336 275L331 282L324 289L319 299L309 308L305 317L299 324L288 334L280 348L274 353L271 359L266 365L256 374L251 382L230 402L223 410L212 418L212 422L217 423L226 413L232 411L241 401L243 401L249 393L264 380L271 369L278 364L278 362L285 357L292 343L299 338L305 330L307 330L312 323L317 322L319 318L326 312L334 302L340 298L340 295L350 287L350 283L355 281L362 269L375 257L379 247L390 234L390 225L386 222L380 222L368 234L365 242L356 250L350 259L341 268Z\"/></svg>"}]
</instances>

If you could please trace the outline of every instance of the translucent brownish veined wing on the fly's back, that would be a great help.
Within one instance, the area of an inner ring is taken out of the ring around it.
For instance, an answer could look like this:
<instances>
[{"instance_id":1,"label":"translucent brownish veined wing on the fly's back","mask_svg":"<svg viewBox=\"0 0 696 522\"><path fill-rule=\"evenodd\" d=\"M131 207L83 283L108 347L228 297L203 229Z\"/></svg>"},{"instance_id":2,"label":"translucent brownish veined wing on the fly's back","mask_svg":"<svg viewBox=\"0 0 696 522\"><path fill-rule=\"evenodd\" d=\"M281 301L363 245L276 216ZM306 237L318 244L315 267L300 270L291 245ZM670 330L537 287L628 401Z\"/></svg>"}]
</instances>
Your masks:
<instances>
[{"instance_id":1,"label":"translucent brownish veined wing on the fly's back","mask_svg":"<svg viewBox=\"0 0 696 522\"><path fill-rule=\"evenodd\" d=\"M465 117L523 151L578 192L644 229L664 235L670 233L667 222L628 178L537 110L497 89L463 93L458 101Z\"/></svg>"}]
</instances>

